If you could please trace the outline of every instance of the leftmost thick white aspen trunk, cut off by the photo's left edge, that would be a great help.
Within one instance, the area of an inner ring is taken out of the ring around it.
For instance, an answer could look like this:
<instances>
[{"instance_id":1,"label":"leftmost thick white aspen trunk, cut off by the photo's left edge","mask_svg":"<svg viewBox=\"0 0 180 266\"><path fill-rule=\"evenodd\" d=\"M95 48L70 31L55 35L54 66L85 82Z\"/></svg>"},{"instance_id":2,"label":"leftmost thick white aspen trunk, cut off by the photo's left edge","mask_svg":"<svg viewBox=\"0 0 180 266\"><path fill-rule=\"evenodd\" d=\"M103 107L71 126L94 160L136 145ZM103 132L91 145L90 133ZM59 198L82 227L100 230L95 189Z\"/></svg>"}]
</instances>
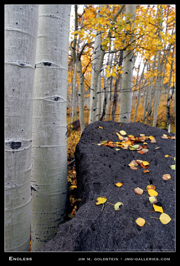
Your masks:
<instances>
[{"instance_id":1,"label":"leftmost thick white aspen trunk, cut off by the photo's left edge","mask_svg":"<svg viewBox=\"0 0 180 266\"><path fill-rule=\"evenodd\" d=\"M5 6L5 251L30 251L37 5Z\"/></svg>"}]
</instances>

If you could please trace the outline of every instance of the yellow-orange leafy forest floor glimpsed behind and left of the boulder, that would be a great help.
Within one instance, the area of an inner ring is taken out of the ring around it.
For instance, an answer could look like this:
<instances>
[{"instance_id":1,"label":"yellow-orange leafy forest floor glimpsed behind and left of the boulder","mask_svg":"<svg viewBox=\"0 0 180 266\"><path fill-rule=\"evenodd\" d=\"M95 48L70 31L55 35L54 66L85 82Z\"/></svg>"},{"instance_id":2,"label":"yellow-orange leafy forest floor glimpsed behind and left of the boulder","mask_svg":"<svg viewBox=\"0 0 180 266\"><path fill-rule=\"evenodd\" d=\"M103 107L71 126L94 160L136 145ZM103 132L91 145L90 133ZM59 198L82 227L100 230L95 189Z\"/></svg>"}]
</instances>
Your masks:
<instances>
[{"instance_id":1,"label":"yellow-orange leafy forest floor glimpsed behind and left of the boulder","mask_svg":"<svg viewBox=\"0 0 180 266\"><path fill-rule=\"evenodd\" d=\"M175 96L173 95L172 100L170 100L170 121L171 121L170 131L172 133L175 133L174 97ZM152 126L152 120L153 120L152 116L149 117L148 123L142 120L143 112L144 112L144 106L142 105L142 100L143 99L141 99L141 104L138 106L136 122L142 122L142 123ZM130 122L134 122L134 114L135 114L135 108L132 108ZM77 112L77 119L79 119L78 112ZM88 124L88 109L84 109L84 120L85 120L85 124L87 125ZM118 122L118 116L117 116L116 122ZM68 124L67 153L68 153L68 163L70 163L72 160L74 160L75 148L76 148L77 143L79 142L81 134L80 134L80 129L78 130L73 129L73 126L71 125L71 119L70 119L69 112L67 112L67 124ZM167 94L164 94L161 96L156 127L168 129ZM69 184L69 194L70 194L70 213L68 217L73 218L76 214L76 209L77 209L77 204L78 204L78 199L76 197L77 180L76 180L75 163L71 164L68 167L68 184Z\"/></svg>"}]
</instances>

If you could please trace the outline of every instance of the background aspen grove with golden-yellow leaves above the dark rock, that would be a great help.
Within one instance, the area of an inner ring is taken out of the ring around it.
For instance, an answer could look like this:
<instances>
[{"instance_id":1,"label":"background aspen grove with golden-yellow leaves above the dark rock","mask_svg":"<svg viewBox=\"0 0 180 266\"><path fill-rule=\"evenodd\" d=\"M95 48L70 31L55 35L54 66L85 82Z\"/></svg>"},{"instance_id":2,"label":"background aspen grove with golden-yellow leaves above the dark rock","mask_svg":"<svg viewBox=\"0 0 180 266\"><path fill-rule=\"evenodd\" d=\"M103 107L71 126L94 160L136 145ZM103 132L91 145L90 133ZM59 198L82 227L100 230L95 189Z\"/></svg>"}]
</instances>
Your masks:
<instances>
[{"instance_id":1,"label":"background aspen grove with golden-yellow leaves above the dark rock","mask_svg":"<svg viewBox=\"0 0 180 266\"><path fill-rule=\"evenodd\" d=\"M168 99L175 88L174 5L78 5L71 16L70 121L76 112L82 130L97 120L137 121L143 98L141 122L156 126L160 97ZM127 60L131 65L125 70ZM86 121L81 104L89 109Z\"/></svg>"}]
</instances>

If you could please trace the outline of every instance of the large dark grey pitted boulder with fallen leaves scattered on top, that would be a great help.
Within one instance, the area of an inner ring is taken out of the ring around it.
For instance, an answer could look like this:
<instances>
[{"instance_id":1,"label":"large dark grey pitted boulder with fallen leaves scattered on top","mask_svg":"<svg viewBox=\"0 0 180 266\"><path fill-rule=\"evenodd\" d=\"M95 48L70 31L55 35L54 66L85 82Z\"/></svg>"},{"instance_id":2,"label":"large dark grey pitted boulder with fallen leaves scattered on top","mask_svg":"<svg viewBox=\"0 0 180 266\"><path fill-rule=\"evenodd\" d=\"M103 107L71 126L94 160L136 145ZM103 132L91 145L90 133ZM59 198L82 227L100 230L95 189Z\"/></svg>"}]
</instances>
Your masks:
<instances>
[{"instance_id":1,"label":"large dark grey pitted boulder with fallen leaves scattered on top","mask_svg":"<svg viewBox=\"0 0 180 266\"><path fill-rule=\"evenodd\" d=\"M102 126L103 129L99 128ZM94 145L103 140L120 141L115 135L117 130L124 130L127 135L153 136L156 143L148 140L149 151L140 154L136 150ZM175 250L175 171L173 139L162 139L169 134L163 129L150 127L143 123L122 124L112 121L98 121L89 124L76 146L76 171L78 196L81 204L75 217L61 225L55 237L38 251L174 251ZM160 147L160 149L156 149ZM169 157L165 157L168 154ZM139 165L131 170L128 164L132 160L148 161L149 173ZM171 180L163 180L163 174L170 174ZM117 182L123 183L119 188ZM153 211L147 191L136 194L136 187L146 189L152 184L158 192L158 203L164 213L171 217L164 225L159 218L160 212ZM106 196L107 202L122 202L120 210L113 205L95 205L96 198ZM149 224L143 227L136 224L138 217Z\"/></svg>"}]
</instances>

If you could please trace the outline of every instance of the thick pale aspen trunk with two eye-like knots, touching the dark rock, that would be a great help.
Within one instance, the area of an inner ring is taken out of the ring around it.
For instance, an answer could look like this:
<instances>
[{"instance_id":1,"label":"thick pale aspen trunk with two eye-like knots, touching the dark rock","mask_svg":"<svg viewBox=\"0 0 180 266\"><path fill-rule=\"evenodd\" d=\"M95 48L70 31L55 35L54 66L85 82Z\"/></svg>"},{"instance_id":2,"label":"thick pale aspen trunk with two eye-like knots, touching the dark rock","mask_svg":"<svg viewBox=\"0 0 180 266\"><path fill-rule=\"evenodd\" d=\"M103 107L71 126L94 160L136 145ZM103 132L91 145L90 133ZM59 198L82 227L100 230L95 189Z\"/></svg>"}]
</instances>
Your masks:
<instances>
[{"instance_id":1,"label":"thick pale aspen trunk with two eye-like knots, touching the dark rock","mask_svg":"<svg viewBox=\"0 0 180 266\"><path fill-rule=\"evenodd\" d=\"M33 105L32 251L52 239L68 199L66 93L69 5L40 5Z\"/></svg>"}]
</instances>

